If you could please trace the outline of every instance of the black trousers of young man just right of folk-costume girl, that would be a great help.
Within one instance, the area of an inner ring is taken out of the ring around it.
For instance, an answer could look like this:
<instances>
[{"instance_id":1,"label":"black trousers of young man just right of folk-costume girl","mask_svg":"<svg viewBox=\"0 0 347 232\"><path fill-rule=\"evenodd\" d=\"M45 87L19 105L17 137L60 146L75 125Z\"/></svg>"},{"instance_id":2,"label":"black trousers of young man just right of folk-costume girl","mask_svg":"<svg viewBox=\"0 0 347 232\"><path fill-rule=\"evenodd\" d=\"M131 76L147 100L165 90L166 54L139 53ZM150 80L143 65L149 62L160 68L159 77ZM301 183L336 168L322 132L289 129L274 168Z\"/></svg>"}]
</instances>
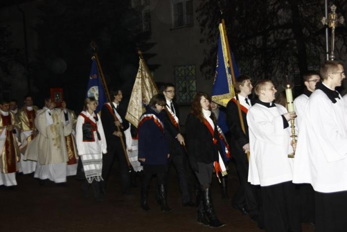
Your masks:
<instances>
[{"instance_id":1,"label":"black trousers of young man just right of folk-costume girl","mask_svg":"<svg viewBox=\"0 0 347 232\"><path fill-rule=\"evenodd\" d=\"M109 180L109 176L111 174L112 165L115 159L118 160L118 171L120 175L120 183L122 192L126 192L130 188L130 173L129 167L125 159L124 151L121 146L120 141L115 141L113 143L107 144L108 153L103 155L103 169L102 169L102 177L104 179L104 187L106 188L106 184Z\"/></svg>"}]
</instances>

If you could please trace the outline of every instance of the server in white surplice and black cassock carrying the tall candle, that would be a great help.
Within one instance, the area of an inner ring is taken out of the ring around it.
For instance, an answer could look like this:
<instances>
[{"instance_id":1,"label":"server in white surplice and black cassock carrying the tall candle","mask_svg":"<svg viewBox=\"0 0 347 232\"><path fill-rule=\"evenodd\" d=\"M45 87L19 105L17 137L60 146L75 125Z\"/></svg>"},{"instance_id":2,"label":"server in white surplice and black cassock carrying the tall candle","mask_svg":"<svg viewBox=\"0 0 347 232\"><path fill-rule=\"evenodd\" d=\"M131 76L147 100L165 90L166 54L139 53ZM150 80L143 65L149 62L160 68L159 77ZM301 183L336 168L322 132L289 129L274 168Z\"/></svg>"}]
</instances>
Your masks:
<instances>
[{"instance_id":1,"label":"server in white surplice and black cassock carrying the tall candle","mask_svg":"<svg viewBox=\"0 0 347 232\"><path fill-rule=\"evenodd\" d=\"M296 117L275 104L277 92L271 80L259 80L258 96L247 113L250 160L248 181L260 185L267 232L301 231L299 208L292 179L293 153L288 121Z\"/></svg>"}]
</instances>

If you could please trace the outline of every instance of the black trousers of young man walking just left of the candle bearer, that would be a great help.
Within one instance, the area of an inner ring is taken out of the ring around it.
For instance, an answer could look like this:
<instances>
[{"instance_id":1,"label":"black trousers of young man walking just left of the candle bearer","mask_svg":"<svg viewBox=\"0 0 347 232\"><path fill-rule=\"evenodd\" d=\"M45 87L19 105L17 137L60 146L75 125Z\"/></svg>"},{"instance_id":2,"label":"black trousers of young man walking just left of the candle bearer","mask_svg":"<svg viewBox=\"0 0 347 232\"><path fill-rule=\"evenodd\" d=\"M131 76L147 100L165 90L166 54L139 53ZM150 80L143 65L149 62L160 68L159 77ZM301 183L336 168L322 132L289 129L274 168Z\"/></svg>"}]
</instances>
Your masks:
<instances>
[{"instance_id":1,"label":"black trousers of young man walking just left of the candle bearer","mask_svg":"<svg viewBox=\"0 0 347 232\"><path fill-rule=\"evenodd\" d=\"M246 208L250 216L258 215L257 191L253 185L248 182L248 160L247 155L235 149L235 154L232 156L235 160L236 171L240 187L232 197L232 204Z\"/></svg>"}]
</instances>

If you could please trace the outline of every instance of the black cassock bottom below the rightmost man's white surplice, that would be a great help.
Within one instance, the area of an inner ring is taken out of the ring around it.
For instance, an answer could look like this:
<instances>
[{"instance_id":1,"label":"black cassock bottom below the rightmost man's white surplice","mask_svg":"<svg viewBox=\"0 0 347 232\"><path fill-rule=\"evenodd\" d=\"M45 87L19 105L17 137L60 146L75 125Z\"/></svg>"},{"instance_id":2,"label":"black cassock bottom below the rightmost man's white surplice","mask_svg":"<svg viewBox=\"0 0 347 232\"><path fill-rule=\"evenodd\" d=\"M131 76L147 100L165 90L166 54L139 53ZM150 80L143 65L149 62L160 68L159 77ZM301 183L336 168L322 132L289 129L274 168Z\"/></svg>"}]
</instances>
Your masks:
<instances>
[{"instance_id":1,"label":"black cassock bottom below the rightmost man's white surplice","mask_svg":"<svg viewBox=\"0 0 347 232\"><path fill-rule=\"evenodd\" d=\"M316 232L347 231L347 191L315 192Z\"/></svg>"}]
</instances>

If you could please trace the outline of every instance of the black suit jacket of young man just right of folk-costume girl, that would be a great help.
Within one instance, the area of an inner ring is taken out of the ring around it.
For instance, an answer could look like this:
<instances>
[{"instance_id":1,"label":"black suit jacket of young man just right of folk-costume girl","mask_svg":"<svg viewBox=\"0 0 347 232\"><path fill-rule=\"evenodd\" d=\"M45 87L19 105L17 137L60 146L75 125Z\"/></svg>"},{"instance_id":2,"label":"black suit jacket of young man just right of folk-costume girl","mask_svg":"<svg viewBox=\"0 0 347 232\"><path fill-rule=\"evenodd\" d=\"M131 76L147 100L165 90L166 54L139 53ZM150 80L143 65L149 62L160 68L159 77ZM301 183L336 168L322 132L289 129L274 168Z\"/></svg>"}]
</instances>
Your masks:
<instances>
[{"instance_id":1,"label":"black suit jacket of young man just right of folk-costume girl","mask_svg":"<svg viewBox=\"0 0 347 232\"><path fill-rule=\"evenodd\" d=\"M122 107L121 103L119 104L117 113L123 121L123 129L121 131L125 131L129 128L129 122L125 120L126 109ZM117 131L117 127L115 125L115 118L106 105L104 105L101 110L101 122L103 124L107 146L111 148L115 143L120 143L119 137L113 135L113 133ZM125 139L124 133L123 138Z\"/></svg>"}]
</instances>

